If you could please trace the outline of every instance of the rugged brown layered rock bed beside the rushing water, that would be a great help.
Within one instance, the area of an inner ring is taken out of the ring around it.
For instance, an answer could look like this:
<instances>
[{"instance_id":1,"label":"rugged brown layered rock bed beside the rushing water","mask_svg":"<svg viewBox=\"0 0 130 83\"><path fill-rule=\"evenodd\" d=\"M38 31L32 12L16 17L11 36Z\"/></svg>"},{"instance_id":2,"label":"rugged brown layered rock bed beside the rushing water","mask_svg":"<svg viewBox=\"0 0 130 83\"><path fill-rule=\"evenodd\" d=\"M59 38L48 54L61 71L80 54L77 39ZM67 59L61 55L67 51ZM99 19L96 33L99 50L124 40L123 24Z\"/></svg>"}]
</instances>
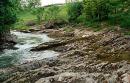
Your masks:
<instances>
[{"instance_id":1,"label":"rugged brown layered rock bed beside the rushing water","mask_svg":"<svg viewBox=\"0 0 130 83\"><path fill-rule=\"evenodd\" d=\"M55 41L31 51L54 50L55 58L1 69L3 83L130 83L130 36L86 29L47 29Z\"/></svg>"}]
</instances>

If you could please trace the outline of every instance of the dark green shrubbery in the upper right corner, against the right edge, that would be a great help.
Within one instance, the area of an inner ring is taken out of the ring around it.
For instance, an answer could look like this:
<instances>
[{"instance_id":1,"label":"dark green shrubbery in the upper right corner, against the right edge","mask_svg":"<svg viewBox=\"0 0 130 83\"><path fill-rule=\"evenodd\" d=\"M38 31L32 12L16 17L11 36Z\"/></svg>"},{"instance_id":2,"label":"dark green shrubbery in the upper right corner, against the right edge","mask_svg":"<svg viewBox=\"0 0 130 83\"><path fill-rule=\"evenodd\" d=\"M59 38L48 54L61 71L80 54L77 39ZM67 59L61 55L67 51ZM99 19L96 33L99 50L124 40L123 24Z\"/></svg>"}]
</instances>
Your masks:
<instances>
[{"instance_id":1,"label":"dark green shrubbery in the upper right corner, against the right edge","mask_svg":"<svg viewBox=\"0 0 130 83\"><path fill-rule=\"evenodd\" d=\"M111 13L109 14L109 23L120 25L121 28L130 28L130 1L113 0L111 1Z\"/></svg>"}]
</instances>

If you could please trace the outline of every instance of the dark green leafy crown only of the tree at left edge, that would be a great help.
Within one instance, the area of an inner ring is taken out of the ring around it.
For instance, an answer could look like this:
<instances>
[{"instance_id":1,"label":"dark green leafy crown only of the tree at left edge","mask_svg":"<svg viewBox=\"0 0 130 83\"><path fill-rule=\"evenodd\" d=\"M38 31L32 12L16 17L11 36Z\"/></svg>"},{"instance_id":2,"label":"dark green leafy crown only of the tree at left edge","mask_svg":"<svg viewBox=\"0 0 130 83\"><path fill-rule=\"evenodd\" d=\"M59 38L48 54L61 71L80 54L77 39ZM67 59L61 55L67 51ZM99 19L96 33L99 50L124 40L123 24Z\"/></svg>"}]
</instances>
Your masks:
<instances>
[{"instance_id":1,"label":"dark green leafy crown only of the tree at left edge","mask_svg":"<svg viewBox=\"0 0 130 83\"><path fill-rule=\"evenodd\" d=\"M18 3L18 0L0 1L0 31L8 30L10 26L16 22Z\"/></svg>"}]
</instances>

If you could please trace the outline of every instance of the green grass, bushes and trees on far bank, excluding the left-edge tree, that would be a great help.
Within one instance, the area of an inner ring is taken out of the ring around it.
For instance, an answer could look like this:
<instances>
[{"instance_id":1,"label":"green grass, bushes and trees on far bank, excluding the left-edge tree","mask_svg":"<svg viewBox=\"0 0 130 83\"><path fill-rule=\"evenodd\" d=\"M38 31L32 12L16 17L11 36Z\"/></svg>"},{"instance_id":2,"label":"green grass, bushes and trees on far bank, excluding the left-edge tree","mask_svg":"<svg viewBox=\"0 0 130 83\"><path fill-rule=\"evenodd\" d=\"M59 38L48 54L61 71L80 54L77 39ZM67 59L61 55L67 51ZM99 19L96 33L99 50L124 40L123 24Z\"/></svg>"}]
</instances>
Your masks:
<instances>
[{"instance_id":1,"label":"green grass, bushes and trees on far bank, excluding the left-edge tree","mask_svg":"<svg viewBox=\"0 0 130 83\"><path fill-rule=\"evenodd\" d=\"M50 5L48 7L26 7L18 14L17 29L26 29L25 23L35 21L40 24L49 20L64 20L68 23L83 24L99 30L102 24L130 27L129 0L83 0L82 2ZM112 29L112 28L111 28Z\"/></svg>"}]
</instances>

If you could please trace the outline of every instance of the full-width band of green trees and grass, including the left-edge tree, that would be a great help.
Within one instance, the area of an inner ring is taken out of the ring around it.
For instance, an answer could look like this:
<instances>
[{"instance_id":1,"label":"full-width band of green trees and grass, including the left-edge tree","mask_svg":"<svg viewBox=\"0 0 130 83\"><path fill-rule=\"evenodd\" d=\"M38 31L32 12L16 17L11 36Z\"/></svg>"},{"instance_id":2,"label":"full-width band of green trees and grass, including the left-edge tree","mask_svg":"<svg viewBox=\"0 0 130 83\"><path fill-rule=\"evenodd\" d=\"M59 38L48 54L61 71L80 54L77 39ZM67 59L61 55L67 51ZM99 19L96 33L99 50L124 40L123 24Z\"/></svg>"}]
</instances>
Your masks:
<instances>
[{"instance_id":1,"label":"full-width band of green trees and grass, including the left-edge tree","mask_svg":"<svg viewBox=\"0 0 130 83\"><path fill-rule=\"evenodd\" d=\"M83 0L82 2L76 1L46 7L41 7L40 0L27 0L28 4L22 5L19 1L6 0L3 1L6 3L5 5L0 3L1 31L9 29L16 21L13 26L15 29L28 29L29 26L26 24L30 21L41 24L50 20L64 20L68 23L83 24L96 30L99 30L103 24L119 26L123 29L130 27L129 0ZM3 11L3 9L5 10Z\"/></svg>"}]
</instances>

